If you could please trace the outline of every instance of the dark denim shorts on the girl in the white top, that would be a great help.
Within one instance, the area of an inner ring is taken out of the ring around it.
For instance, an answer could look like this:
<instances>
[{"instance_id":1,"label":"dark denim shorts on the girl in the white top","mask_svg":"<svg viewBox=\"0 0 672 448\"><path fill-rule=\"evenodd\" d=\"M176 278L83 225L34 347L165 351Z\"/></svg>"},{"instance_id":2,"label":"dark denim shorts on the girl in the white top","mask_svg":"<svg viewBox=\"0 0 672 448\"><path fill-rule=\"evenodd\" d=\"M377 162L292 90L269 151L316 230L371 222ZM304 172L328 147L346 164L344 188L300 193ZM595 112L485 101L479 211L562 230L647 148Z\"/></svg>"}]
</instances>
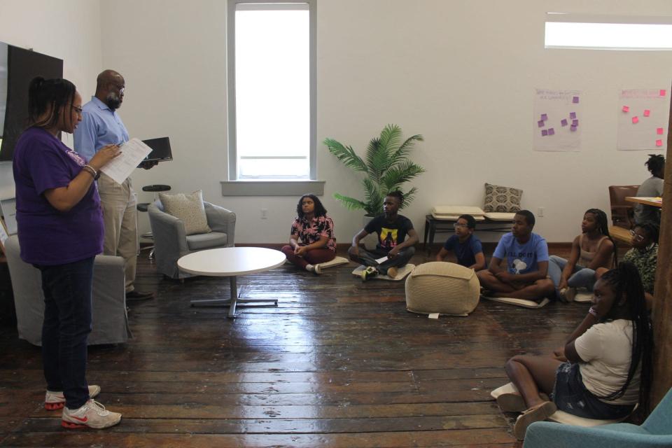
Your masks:
<instances>
[{"instance_id":1,"label":"dark denim shorts on the girl in the white top","mask_svg":"<svg viewBox=\"0 0 672 448\"><path fill-rule=\"evenodd\" d=\"M578 364L562 363L555 372L551 400L561 411L586 419L615 420L628 416L635 405L611 405L583 384Z\"/></svg>"}]
</instances>

